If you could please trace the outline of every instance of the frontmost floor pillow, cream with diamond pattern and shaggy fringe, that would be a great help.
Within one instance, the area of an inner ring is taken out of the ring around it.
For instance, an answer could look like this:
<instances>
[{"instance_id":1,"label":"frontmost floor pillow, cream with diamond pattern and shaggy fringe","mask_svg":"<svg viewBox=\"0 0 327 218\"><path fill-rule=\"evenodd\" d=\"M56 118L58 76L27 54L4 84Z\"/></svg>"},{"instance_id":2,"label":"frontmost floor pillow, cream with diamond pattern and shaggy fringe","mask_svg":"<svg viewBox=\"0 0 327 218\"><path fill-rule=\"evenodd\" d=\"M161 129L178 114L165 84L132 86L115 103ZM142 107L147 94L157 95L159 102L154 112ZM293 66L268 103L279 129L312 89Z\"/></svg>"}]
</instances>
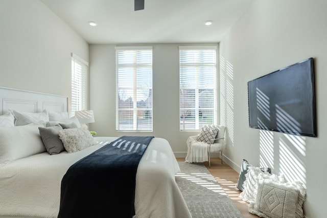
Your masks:
<instances>
[{"instance_id":1,"label":"frontmost floor pillow, cream with diamond pattern and shaggy fringe","mask_svg":"<svg viewBox=\"0 0 327 218\"><path fill-rule=\"evenodd\" d=\"M299 181L258 177L258 194L248 211L261 217L303 217L306 188Z\"/></svg>"}]
</instances>

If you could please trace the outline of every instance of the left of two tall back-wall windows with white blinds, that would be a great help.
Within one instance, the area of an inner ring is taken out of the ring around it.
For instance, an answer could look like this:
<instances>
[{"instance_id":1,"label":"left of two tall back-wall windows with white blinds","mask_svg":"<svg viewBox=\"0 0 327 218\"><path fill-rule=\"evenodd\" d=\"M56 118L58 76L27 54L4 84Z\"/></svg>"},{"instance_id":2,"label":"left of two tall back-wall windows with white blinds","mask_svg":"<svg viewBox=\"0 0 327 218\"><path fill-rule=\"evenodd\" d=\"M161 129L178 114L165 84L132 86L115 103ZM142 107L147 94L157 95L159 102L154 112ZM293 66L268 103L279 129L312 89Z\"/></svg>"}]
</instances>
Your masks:
<instances>
[{"instance_id":1,"label":"left of two tall back-wall windows with white blinds","mask_svg":"<svg viewBox=\"0 0 327 218\"><path fill-rule=\"evenodd\" d=\"M152 47L116 47L116 130L152 131Z\"/></svg>"}]
</instances>

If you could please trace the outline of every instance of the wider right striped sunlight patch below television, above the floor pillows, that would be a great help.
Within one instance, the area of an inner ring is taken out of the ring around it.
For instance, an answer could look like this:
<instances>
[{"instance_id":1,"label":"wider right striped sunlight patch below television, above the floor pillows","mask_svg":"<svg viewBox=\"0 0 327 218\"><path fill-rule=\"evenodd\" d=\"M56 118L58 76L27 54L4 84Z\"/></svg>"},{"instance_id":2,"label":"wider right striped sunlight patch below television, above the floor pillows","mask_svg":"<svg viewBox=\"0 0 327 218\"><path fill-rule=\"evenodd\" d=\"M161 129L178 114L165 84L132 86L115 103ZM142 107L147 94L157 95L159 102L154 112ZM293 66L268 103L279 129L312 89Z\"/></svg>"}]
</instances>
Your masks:
<instances>
[{"instance_id":1,"label":"wider right striped sunlight patch below television, above the floor pillows","mask_svg":"<svg viewBox=\"0 0 327 218\"><path fill-rule=\"evenodd\" d=\"M298 180L306 185L305 165L283 139L279 139L279 162L280 171L288 181Z\"/></svg>"}]
</instances>

